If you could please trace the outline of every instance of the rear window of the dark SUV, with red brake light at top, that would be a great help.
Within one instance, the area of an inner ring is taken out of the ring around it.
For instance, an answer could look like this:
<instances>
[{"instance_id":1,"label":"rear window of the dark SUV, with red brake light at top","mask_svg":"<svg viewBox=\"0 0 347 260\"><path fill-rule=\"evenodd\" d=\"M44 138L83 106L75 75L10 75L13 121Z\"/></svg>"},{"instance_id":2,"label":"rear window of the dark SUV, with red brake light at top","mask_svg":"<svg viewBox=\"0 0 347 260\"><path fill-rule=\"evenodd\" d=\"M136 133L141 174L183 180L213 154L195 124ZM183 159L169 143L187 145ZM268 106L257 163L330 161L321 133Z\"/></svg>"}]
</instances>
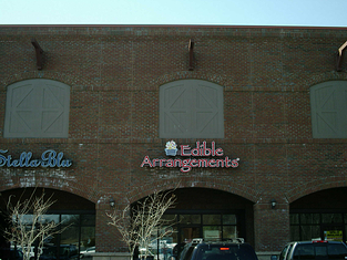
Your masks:
<instances>
[{"instance_id":1,"label":"rear window of the dark SUV, with red brake light at top","mask_svg":"<svg viewBox=\"0 0 347 260\"><path fill-rule=\"evenodd\" d=\"M256 260L249 245L204 245L194 260Z\"/></svg>"}]
</instances>

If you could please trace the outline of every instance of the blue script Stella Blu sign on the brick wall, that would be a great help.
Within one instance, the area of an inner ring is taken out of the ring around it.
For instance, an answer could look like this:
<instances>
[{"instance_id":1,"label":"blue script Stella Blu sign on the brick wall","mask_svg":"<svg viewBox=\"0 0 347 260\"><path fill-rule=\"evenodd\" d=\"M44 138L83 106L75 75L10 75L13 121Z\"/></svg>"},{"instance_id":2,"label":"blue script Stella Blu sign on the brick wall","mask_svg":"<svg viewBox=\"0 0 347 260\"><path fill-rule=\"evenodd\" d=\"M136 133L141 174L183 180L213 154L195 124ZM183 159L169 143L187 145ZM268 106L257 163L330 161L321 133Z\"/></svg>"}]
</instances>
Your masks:
<instances>
[{"instance_id":1,"label":"blue script Stella Blu sign on the brick wall","mask_svg":"<svg viewBox=\"0 0 347 260\"><path fill-rule=\"evenodd\" d=\"M23 152L19 158L12 158L11 155L6 155L8 150L0 149L0 167L14 167L14 168L35 168L35 167L70 167L72 160L64 159L62 152L58 153L48 149L42 153L41 159L32 159L31 152Z\"/></svg>"}]
</instances>

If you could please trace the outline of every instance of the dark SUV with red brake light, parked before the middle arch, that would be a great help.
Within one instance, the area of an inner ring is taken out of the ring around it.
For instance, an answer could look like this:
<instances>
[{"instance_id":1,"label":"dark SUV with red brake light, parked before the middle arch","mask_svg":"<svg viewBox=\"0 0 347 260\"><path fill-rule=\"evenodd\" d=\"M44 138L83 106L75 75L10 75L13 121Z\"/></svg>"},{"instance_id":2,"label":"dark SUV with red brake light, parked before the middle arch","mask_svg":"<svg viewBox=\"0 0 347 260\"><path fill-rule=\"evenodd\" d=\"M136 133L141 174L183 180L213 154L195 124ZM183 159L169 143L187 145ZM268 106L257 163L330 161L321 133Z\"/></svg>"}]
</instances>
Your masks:
<instances>
[{"instance_id":1,"label":"dark SUV with red brake light, parked before the middle arch","mask_svg":"<svg viewBox=\"0 0 347 260\"><path fill-rule=\"evenodd\" d=\"M222 242L193 239L184 247L180 260L257 260L257 256L243 239Z\"/></svg>"}]
</instances>

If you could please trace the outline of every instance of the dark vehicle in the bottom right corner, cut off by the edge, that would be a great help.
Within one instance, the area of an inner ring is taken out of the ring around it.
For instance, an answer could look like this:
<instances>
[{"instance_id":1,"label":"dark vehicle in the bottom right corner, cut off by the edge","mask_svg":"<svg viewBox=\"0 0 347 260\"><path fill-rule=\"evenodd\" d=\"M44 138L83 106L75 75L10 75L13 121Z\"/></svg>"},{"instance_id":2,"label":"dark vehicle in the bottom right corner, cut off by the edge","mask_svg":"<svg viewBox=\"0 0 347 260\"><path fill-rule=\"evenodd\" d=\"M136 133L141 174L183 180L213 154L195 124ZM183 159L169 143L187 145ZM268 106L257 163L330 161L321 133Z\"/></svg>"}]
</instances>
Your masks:
<instances>
[{"instance_id":1,"label":"dark vehicle in the bottom right corner, cut off by the edge","mask_svg":"<svg viewBox=\"0 0 347 260\"><path fill-rule=\"evenodd\" d=\"M273 257L272 260L277 259ZM279 254L279 260L346 260L347 246L344 242L314 240L287 243Z\"/></svg>"}]
</instances>

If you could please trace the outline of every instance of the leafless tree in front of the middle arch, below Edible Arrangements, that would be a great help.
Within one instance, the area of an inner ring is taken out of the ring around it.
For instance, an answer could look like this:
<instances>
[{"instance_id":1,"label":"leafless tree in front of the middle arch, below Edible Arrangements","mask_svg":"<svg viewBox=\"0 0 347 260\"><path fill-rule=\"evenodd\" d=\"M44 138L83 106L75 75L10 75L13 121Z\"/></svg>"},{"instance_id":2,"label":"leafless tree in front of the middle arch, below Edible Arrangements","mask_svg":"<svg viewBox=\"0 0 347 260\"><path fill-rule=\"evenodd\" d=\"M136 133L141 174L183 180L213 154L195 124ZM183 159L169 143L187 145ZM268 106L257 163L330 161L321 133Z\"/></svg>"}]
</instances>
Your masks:
<instances>
[{"instance_id":1,"label":"leafless tree in front of the middle arch, below Edible Arrangements","mask_svg":"<svg viewBox=\"0 0 347 260\"><path fill-rule=\"evenodd\" d=\"M106 212L111 219L109 225L120 231L132 256L139 248L140 257L146 259L150 245L172 232L174 219L165 220L162 217L169 208L174 207L175 201L172 191L154 193L133 206L127 205L121 211Z\"/></svg>"}]
</instances>

